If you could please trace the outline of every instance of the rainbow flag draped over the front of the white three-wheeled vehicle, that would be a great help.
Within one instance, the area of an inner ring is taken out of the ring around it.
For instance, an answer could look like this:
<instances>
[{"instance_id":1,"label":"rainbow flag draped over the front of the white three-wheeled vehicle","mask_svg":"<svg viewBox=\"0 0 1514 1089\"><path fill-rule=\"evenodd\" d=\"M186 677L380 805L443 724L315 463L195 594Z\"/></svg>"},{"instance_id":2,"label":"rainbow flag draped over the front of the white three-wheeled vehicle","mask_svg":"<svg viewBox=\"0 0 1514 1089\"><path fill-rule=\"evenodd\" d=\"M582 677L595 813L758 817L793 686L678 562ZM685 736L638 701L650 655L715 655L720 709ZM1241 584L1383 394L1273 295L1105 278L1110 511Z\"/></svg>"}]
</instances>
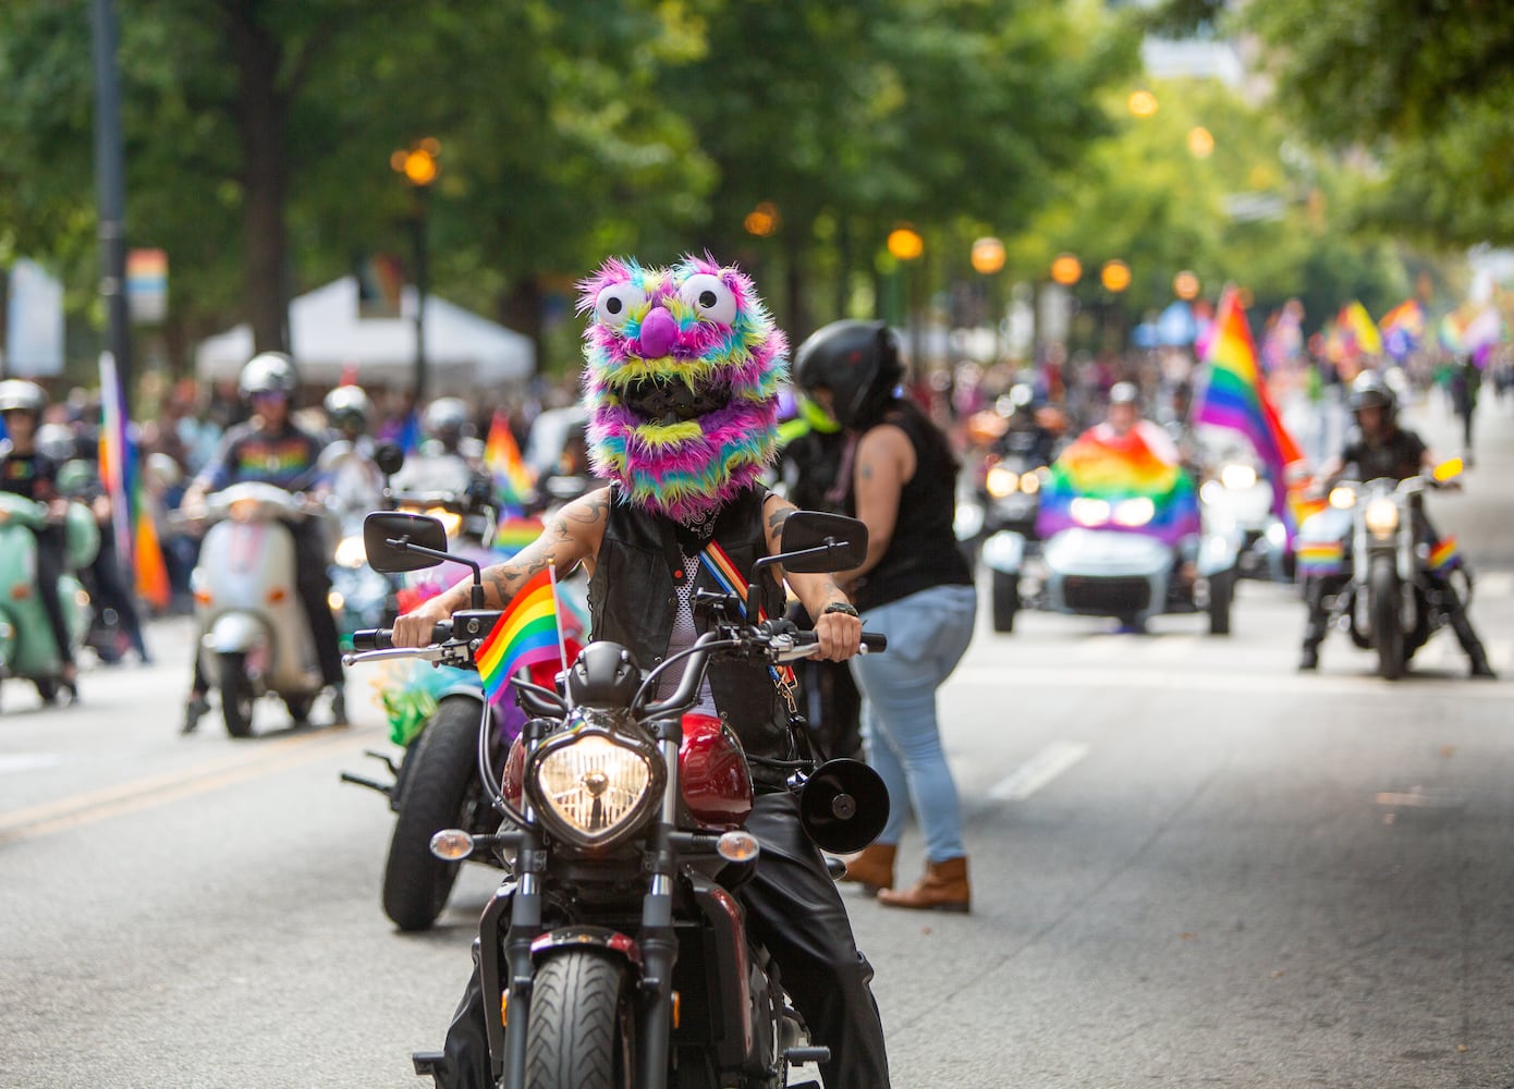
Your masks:
<instances>
[{"instance_id":1,"label":"rainbow flag draped over the front of the white three-wheeled vehicle","mask_svg":"<svg viewBox=\"0 0 1514 1089\"><path fill-rule=\"evenodd\" d=\"M1036 532L1119 530L1176 544L1199 532L1199 498L1179 465L1163 460L1140 430L1116 436L1095 427L1052 463Z\"/></svg>"}]
</instances>

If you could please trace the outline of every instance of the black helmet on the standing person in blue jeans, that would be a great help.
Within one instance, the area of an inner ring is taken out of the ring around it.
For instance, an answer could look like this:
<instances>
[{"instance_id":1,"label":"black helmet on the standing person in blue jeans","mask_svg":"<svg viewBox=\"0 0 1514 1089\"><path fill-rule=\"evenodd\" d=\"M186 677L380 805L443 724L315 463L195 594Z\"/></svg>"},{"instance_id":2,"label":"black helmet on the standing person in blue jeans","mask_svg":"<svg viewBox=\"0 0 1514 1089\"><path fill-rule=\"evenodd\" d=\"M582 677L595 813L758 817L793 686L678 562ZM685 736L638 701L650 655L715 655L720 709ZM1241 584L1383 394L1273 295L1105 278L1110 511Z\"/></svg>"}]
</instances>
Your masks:
<instances>
[{"instance_id":1,"label":"black helmet on the standing person in blue jeans","mask_svg":"<svg viewBox=\"0 0 1514 1089\"><path fill-rule=\"evenodd\" d=\"M877 420L901 377L898 341L881 321L833 321L810 333L793 356L793 380L805 392L828 389L842 427Z\"/></svg>"}]
</instances>

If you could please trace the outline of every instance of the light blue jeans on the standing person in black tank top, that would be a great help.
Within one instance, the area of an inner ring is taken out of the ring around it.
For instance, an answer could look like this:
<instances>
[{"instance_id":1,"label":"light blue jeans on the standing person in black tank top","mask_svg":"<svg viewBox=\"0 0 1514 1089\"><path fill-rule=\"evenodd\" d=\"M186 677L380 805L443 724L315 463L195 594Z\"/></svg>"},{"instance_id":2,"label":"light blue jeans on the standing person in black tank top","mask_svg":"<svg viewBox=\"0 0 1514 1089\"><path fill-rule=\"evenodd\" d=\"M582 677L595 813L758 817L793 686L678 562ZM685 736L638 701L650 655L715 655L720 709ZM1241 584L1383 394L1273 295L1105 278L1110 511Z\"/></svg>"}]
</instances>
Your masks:
<instances>
[{"instance_id":1,"label":"light blue jeans on the standing person in black tank top","mask_svg":"<svg viewBox=\"0 0 1514 1089\"><path fill-rule=\"evenodd\" d=\"M967 651L978 612L972 586L933 586L868 609L868 630L889 636L889 650L851 660L863 694L868 763L889 788L889 822L880 844L898 844L907 809L925 833L925 857L966 854L957 785L936 724L936 689Z\"/></svg>"}]
</instances>

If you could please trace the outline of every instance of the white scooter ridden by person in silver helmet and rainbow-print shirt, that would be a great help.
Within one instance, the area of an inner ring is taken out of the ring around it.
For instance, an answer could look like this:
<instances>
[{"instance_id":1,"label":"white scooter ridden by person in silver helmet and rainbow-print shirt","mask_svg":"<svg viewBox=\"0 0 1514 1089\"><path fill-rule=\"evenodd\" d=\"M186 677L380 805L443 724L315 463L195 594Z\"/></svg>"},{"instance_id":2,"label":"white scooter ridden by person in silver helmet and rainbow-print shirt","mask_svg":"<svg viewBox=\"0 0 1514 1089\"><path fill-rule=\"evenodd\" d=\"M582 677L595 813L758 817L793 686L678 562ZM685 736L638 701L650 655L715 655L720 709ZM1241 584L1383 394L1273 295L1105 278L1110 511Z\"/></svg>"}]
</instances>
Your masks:
<instances>
[{"instance_id":1,"label":"white scooter ridden by person in silver helmet and rainbow-print shirt","mask_svg":"<svg viewBox=\"0 0 1514 1089\"><path fill-rule=\"evenodd\" d=\"M206 501L210 529L191 576L197 653L233 738L251 736L257 697L277 695L304 722L322 688L289 530L307 516L300 497L265 483L232 485Z\"/></svg>"}]
</instances>

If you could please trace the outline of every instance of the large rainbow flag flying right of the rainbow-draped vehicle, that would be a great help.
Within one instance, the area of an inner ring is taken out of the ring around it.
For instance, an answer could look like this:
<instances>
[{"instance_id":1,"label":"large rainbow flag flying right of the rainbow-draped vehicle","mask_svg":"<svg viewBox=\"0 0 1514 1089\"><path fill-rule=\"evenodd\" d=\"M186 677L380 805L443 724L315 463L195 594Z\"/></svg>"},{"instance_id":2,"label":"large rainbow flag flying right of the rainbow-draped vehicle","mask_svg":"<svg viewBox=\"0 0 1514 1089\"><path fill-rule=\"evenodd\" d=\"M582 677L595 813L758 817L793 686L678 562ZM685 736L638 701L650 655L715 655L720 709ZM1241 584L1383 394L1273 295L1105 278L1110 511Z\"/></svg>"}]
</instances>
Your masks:
<instances>
[{"instance_id":1,"label":"large rainbow flag flying right of the rainbow-draped vehicle","mask_svg":"<svg viewBox=\"0 0 1514 1089\"><path fill-rule=\"evenodd\" d=\"M1199 392L1193 418L1213 427L1228 427L1245 435L1267 468L1272 485L1272 510L1290 527L1296 526L1288 512L1288 466L1304 460L1304 451L1282 426L1278 410L1267 397L1257 365L1257 345L1251 339L1246 310L1234 288L1226 288L1214 318L1214 336L1204 353L1208 380Z\"/></svg>"}]
</instances>

